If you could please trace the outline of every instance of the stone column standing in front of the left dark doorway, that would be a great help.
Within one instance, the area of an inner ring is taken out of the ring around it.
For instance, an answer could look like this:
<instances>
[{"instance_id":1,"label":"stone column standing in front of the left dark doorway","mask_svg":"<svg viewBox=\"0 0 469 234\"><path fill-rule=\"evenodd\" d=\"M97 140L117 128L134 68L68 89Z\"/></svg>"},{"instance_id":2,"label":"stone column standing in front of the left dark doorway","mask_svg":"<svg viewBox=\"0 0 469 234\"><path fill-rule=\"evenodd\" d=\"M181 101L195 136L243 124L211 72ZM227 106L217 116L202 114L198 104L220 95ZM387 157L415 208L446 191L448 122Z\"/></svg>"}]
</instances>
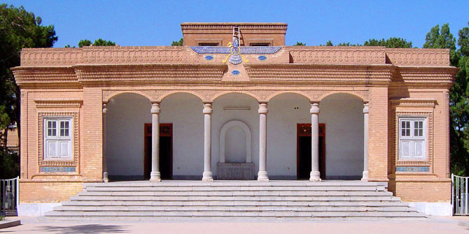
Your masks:
<instances>
[{"instance_id":1,"label":"stone column standing in front of the left dark doorway","mask_svg":"<svg viewBox=\"0 0 469 234\"><path fill-rule=\"evenodd\" d=\"M151 182L160 182L160 103L151 104Z\"/></svg>"}]
</instances>

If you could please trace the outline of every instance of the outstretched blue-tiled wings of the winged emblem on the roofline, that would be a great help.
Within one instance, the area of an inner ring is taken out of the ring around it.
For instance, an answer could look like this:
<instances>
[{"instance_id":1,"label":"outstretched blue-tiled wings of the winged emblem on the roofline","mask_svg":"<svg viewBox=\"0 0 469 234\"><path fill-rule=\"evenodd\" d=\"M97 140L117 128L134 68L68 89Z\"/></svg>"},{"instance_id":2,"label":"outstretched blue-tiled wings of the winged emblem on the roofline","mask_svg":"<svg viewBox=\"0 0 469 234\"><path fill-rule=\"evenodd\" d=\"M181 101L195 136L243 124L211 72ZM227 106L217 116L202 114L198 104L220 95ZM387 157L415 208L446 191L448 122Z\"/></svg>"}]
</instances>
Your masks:
<instances>
[{"instance_id":1,"label":"outstretched blue-tiled wings of the winged emblem on the roofline","mask_svg":"<svg viewBox=\"0 0 469 234\"><path fill-rule=\"evenodd\" d=\"M281 46L240 46L241 54L275 54ZM225 46L191 46L197 54L230 54L231 48Z\"/></svg>"}]
</instances>

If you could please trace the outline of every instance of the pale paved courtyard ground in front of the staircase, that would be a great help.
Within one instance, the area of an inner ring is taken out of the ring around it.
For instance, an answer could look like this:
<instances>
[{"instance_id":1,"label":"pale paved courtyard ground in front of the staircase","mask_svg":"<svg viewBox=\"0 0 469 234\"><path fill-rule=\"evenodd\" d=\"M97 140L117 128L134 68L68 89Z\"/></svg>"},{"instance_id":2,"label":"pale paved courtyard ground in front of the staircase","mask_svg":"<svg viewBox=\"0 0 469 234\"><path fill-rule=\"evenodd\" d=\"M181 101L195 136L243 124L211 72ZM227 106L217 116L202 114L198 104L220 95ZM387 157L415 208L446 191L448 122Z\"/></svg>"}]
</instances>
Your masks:
<instances>
[{"instance_id":1,"label":"pale paved courtyard ground in front of the staircase","mask_svg":"<svg viewBox=\"0 0 469 234\"><path fill-rule=\"evenodd\" d=\"M427 221L168 221L168 222L50 222L22 218L22 225L0 233L469 233L467 217L438 217Z\"/></svg>"}]
</instances>

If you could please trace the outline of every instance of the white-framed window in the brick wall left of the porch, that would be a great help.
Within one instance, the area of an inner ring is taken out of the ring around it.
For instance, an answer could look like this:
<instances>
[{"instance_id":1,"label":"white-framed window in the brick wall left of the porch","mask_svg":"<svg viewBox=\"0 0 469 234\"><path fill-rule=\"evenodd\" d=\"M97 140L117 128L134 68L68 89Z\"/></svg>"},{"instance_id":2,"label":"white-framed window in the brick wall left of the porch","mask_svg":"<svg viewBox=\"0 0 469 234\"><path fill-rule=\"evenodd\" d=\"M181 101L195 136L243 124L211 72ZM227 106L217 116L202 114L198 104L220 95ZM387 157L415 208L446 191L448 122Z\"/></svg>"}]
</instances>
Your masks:
<instances>
[{"instance_id":1,"label":"white-framed window in the brick wall left of the porch","mask_svg":"<svg viewBox=\"0 0 469 234\"><path fill-rule=\"evenodd\" d=\"M44 119L44 159L72 158L71 118Z\"/></svg>"}]
</instances>

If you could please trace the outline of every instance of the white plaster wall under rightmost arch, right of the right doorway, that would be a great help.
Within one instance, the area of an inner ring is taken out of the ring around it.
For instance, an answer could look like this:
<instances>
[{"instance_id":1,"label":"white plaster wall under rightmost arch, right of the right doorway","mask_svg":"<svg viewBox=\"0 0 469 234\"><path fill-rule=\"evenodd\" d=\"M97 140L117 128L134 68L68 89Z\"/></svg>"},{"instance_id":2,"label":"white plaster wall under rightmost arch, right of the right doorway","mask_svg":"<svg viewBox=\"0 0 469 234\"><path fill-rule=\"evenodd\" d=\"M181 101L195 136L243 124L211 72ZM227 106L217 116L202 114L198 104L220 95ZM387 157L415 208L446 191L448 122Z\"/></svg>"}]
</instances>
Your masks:
<instances>
[{"instance_id":1,"label":"white plaster wall under rightmost arch, right of the right doorway","mask_svg":"<svg viewBox=\"0 0 469 234\"><path fill-rule=\"evenodd\" d=\"M325 175L361 177L363 173L363 101L332 94L319 104L325 123Z\"/></svg>"}]
</instances>

